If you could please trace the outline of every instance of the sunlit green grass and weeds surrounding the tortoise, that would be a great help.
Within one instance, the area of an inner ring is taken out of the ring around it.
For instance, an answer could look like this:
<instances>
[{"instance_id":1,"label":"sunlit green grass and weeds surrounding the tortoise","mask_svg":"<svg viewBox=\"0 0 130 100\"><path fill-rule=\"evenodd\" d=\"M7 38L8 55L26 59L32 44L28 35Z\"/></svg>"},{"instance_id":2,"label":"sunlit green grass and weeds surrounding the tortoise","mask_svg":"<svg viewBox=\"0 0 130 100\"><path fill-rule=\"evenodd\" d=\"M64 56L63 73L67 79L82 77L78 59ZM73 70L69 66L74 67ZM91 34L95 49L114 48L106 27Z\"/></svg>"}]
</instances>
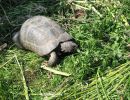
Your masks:
<instances>
[{"instance_id":1,"label":"sunlit green grass and weeds surrounding the tortoise","mask_svg":"<svg viewBox=\"0 0 130 100\"><path fill-rule=\"evenodd\" d=\"M8 48L0 53L0 99L130 100L129 6L129 0L1 0L0 40ZM85 16L74 18L81 8ZM12 42L22 23L39 14L59 23L79 45L54 67L70 77L41 69L45 57Z\"/></svg>"}]
</instances>

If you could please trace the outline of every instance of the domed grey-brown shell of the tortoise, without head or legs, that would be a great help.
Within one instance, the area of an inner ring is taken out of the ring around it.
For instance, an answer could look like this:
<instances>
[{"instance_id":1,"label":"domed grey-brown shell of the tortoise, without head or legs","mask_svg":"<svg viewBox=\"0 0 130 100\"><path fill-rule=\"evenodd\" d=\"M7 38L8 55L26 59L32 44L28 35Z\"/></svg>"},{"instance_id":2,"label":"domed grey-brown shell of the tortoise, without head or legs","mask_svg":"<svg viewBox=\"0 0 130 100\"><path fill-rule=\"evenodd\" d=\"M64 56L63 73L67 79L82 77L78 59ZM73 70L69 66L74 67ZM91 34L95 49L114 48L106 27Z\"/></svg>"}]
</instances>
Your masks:
<instances>
[{"instance_id":1,"label":"domed grey-brown shell of the tortoise, without head or legs","mask_svg":"<svg viewBox=\"0 0 130 100\"><path fill-rule=\"evenodd\" d=\"M40 56L49 54L60 42L70 39L72 37L56 22L44 16L28 19L20 30L20 42L23 47Z\"/></svg>"}]
</instances>

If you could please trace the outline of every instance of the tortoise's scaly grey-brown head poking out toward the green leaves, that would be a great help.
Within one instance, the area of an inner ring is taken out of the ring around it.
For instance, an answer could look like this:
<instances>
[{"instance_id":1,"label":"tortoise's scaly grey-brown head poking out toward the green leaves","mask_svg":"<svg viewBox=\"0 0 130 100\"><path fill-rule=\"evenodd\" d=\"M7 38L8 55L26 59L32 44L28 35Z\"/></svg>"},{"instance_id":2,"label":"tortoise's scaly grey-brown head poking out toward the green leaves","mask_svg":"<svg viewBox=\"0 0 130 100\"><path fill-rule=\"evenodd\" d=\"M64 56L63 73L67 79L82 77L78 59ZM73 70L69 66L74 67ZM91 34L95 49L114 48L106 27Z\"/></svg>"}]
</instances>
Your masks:
<instances>
[{"instance_id":1,"label":"tortoise's scaly grey-brown head poking out toward the green leaves","mask_svg":"<svg viewBox=\"0 0 130 100\"><path fill-rule=\"evenodd\" d=\"M64 53L73 53L77 49L77 44L73 41L65 41L61 43L61 51Z\"/></svg>"}]
</instances>

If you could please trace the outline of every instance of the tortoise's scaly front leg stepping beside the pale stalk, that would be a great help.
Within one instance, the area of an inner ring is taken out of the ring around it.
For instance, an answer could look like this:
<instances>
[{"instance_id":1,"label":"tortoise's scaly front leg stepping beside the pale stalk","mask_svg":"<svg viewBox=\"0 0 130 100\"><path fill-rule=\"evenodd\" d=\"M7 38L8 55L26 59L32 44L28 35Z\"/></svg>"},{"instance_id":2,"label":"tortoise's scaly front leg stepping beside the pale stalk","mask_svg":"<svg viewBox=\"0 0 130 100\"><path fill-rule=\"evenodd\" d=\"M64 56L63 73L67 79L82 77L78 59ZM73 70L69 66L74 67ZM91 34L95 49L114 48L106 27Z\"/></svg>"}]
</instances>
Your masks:
<instances>
[{"instance_id":1,"label":"tortoise's scaly front leg stepping beside the pale stalk","mask_svg":"<svg viewBox=\"0 0 130 100\"><path fill-rule=\"evenodd\" d=\"M56 52L55 51L52 51L51 53L50 53L50 58L49 58L49 60L48 60L48 66L54 66L54 65L56 65L56 63L57 63L57 54L56 54Z\"/></svg>"}]
</instances>

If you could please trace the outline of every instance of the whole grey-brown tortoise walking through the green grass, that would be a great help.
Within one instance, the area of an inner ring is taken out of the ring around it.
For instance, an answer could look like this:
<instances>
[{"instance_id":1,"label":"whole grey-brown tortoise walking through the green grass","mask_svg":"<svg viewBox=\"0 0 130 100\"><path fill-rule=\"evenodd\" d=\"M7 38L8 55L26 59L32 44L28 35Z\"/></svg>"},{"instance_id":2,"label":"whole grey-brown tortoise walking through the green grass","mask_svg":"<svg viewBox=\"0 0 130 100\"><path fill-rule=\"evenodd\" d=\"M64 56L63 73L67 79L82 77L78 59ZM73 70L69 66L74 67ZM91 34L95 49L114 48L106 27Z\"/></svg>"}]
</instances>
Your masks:
<instances>
[{"instance_id":1,"label":"whole grey-brown tortoise walking through the green grass","mask_svg":"<svg viewBox=\"0 0 130 100\"><path fill-rule=\"evenodd\" d=\"M56 65L58 56L73 53L78 47L72 36L55 21L41 15L27 19L13 36L13 41L39 56L49 55L48 66Z\"/></svg>"}]
</instances>

